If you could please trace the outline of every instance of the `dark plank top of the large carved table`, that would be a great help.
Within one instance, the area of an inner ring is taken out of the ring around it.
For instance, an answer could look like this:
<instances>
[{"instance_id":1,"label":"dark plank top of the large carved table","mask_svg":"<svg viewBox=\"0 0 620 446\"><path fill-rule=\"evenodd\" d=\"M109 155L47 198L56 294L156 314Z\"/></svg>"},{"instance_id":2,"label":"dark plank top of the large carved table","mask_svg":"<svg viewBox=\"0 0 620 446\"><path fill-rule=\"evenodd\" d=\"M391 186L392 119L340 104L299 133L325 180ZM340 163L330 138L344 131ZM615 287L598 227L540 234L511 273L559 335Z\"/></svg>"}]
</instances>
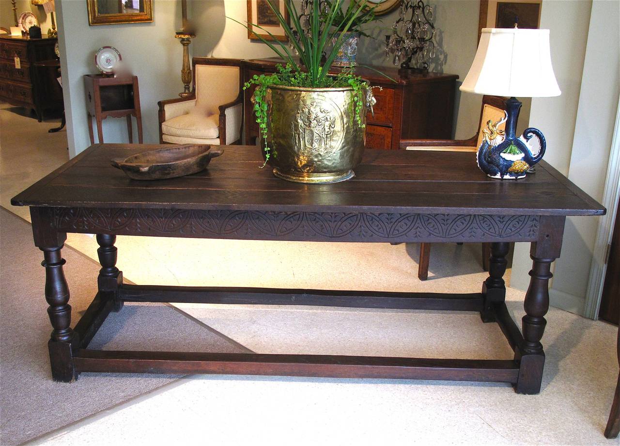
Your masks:
<instances>
[{"instance_id":1,"label":"dark plank top of the large carved table","mask_svg":"<svg viewBox=\"0 0 620 446\"><path fill-rule=\"evenodd\" d=\"M136 181L110 165L159 145L97 144L11 200L15 206L404 212L485 215L603 215L605 210L542 161L525 179L490 179L476 154L366 149L356 176L298 184L273 176L254 146L227 146L206 171Z\"/></svg>"}]
</instances>

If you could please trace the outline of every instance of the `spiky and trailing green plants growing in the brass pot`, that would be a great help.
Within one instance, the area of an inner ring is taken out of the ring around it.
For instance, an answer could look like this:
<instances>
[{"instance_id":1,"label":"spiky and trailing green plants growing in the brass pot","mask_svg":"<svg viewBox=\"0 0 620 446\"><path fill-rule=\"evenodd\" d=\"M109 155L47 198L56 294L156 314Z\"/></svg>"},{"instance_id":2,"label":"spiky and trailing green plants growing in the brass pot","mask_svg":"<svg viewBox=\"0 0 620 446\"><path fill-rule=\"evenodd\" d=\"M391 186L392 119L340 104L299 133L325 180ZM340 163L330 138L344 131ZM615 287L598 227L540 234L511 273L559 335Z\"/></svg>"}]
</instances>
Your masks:
<instances>
[{"instance_id":1,"label":"spiky and trailing green plants growing in the brass pot","mask_svg":"<svg viewBox=\"0 0 620 446\"><path fill-rule=\"evenodd\" d=\"M336 22L339 14L342 15L343 0L332 0L329 2L329 9L325 12L319 10L319 0L312 2L312 13L309 20L309 30L306 32L299 22L299 13L292 0L284 0L286 11L291 17L291 25L288 24L285 17L280 12L280 8L273 4L274 0L267 0L267 3L273 14L278 18L281 27L284 29L286 36L298 53L301 63L306 67L307 71L302 71L291 55L291 51L285 43L277 40L272 33L264 29L260 25L251 24L252 27L263 30L273 38L273 41L265 40L259 35L260 40L268 45L278 56L286 62L286 66L280 66L277 73L262 74L254 76L244 85L244 89L255 84L257 87L252 98L254 99L254 114L256 122L259 125L260 135L263 138L266 160L270 158L271 149L267 145L268 118L267 103L265 95L267 88L272 85L294 86L294 87L351 87L355 91L356 102L356 120L360 127L363 127L363 120L360 116L363 109L363 101L365 100L365 91L368 88L359 76L353 71L345 70L337 76L328 76L329 68L332 65L338 51L344 42L344 33L350 29L366 6L366 1L360 2L358 7L347 8L347 14L342 19L344 22ZM238 20L229 19L249 29L248 25L242 24ZM334 28L337 25L337 28ZM298 39L296 38L299 38ZM332 47L329 49L329 45ZM325 59L322 57L325 53ZM277 154L274 154L277 156Z\"/></svg>"}]
</instances>

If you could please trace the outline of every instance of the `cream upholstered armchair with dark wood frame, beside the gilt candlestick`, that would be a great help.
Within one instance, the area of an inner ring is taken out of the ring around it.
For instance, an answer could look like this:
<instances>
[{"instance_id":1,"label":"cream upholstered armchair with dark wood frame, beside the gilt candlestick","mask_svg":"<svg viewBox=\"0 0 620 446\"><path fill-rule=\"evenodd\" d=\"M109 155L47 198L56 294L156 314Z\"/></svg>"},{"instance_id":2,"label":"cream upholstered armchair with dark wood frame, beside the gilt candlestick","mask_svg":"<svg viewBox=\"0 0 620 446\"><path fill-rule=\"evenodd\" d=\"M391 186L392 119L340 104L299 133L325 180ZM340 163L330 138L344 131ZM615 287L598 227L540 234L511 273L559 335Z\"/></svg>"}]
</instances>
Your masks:
<instances>
[{"instance_id":1,"label":"cream upholstered armchair with dark wood frame, beside the gilt candlestick","mask_svg":"<svg viewBox=\"0 0 620 446\"><path fill-rule=\"evenodd\" d=\"M192 59L190 96L161 100L159 142L239 144L243 119L241 61Z\"/></svg>"}]
</instances>

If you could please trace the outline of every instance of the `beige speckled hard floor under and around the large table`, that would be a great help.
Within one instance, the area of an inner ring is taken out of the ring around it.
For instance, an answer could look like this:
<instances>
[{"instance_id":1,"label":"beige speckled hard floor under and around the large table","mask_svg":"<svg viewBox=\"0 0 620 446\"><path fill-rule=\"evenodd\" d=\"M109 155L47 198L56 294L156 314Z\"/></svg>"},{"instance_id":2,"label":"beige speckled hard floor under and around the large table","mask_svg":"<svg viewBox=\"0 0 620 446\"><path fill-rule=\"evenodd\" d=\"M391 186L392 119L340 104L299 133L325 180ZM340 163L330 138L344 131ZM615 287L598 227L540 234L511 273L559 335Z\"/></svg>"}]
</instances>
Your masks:
<instances>
[{"instance_id":1,"label":"beige speckled hard floor under and around the large table","mask_svg":"<svg viewBox=\"0 0 620 446\"><path fill-rule=\"evenodd\" d=\"M40 149L36 143L25 146L17 144L19 138L7 138L5 127L18 125L20 117L6 109L0 114L0 203L7 207L12 194L7 190L31 184L54 166L46 164L31 176L12 175L15 167L9 160L19 163L11 154L17 146L35 158ZM62 163L61 158L55 162ZM5 174L12 175L8 187ZM24 215L23 210L7 208ZM95 257L97 246L89 236L72 234L68 244ZM485 278L479 245L434 246L427 282L415 275L416 244L119 237L117 246L118 266L136 283L478 292ZM510 310L517 319L523 314L522 300L522 292L508 289ZM475 314L177 308L256 352L510 357L497 326L482 324ZM506 385L450 381L196 376L51 432L38 442L617 444L602 435L618 373L616 328L556 309L547 319L542 339L547 363L537 396L516 395Z\"/></svg>"}]
</instances>

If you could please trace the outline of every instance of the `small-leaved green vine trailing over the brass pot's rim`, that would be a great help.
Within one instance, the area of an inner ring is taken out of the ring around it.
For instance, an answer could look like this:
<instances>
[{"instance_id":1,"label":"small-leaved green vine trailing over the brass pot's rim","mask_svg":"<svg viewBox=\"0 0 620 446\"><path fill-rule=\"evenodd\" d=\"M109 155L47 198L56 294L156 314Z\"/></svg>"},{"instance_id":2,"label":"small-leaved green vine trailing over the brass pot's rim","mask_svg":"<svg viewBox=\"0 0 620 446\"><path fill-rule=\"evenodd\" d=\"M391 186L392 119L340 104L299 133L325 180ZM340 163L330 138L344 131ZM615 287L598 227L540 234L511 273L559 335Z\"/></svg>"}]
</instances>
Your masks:
<instances>
[{"instance_id":1,"label":"small-leaved green vine trailing over the brass pot's rim","mask_svg":"<svg viewBox=\"0 0 620 446\"><path fill-rule=\"evenodd\" d=\"M246 90L252 85L256 85L254 94L252 94L254 115L256 123L259 125L260 136L263 140L263 149L265 150L265 163L262 167L265 167L265 164L267 164L272 154L272 148L267 145L268 105L267 102L265 102L267 89L270 86L311 88L350 87L355 92L355 96L353 96L353 101L355 102L355 120L360 128L366 127L361 114L366 99L366 91L368 91L370 87L360 76L356 76L352 69L343 69L335 76L324 76L321 81L317 83L308 73L299 71L298 69L293 71L293 67L290 64L286 64L286 66L277 65L276 73L261 74L260 76L255 74L252 76L252 79L244 84L243 89ZM277 153L273 152L273 156L277 156Z\"/></svg>"}]
</instances>

